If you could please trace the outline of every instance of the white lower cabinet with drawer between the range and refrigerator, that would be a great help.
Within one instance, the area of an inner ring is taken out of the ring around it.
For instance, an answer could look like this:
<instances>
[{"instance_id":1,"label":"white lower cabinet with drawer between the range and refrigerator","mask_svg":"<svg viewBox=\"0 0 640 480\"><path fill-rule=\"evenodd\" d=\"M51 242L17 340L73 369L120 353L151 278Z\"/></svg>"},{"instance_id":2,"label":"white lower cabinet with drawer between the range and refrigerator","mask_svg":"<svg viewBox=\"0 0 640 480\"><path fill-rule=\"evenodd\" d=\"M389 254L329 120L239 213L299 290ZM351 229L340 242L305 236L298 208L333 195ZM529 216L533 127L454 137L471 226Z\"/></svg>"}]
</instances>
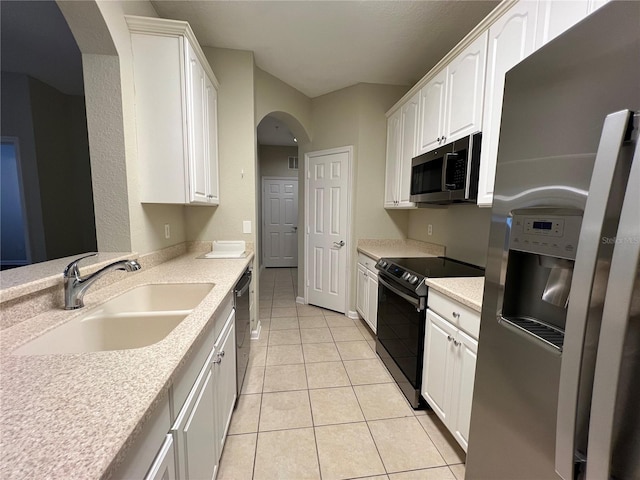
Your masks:
<instances>
[{"instance_id":1,"label":"white lower cabinet with drawer between the range and refrigerator","mask_svg":"<svg viewBox=\"0 0 640 480\"><path fill-rule=\"evenodd\" d=\"M446 308L440 315L431 309L432 296L438 295L429 292L421 393L466 451L478 352L470 333L477 335L480 316L450 299L436 303Z\"/></svg>"}]
</instances>

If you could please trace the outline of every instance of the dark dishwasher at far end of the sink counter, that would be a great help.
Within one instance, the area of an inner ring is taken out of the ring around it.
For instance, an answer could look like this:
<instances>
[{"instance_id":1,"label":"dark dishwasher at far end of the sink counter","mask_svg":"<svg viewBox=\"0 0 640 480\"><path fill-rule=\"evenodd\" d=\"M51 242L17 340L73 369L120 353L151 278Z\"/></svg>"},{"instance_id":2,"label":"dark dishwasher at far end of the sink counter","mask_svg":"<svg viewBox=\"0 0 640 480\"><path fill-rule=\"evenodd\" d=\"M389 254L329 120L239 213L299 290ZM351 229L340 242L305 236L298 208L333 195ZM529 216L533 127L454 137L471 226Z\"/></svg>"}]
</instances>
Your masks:
<instances>
[{"instance_id":1,"label":"dark dishwasher at far end of the sink counter","mask_svg":"<svg viewBox=\"0 0 640 480\"><path fill-rule=\"evenodd\" d=\"M236 283L236 286L233 287L233 303L236 309L236 385L238 398L240 398L240 392L242 392L242 383L247 372L249 349L251 347L250 286L251 269L247 268L238 283Z\"/></svg>"}]
</instances>

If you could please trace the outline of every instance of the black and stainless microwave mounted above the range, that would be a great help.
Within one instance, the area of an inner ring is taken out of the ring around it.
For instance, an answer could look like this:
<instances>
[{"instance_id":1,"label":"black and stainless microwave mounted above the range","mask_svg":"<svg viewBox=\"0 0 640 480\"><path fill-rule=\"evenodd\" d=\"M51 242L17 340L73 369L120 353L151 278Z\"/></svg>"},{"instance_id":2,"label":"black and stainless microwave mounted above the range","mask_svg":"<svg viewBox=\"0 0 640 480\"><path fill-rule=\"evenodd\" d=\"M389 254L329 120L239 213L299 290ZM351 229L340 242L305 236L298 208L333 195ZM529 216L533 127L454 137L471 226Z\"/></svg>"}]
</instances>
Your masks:
<instances>
[{"instance_id":1,"label":"black and stainless microwave mounted above the range","mask_svg":"<svg viewBox=\"0 0 640 480\"><path fill-rule=\"evenodd\" d=\"M482 133L448 143L411 160L410 200L418 206L478 199Z\"/></svg>"}]
</instances>

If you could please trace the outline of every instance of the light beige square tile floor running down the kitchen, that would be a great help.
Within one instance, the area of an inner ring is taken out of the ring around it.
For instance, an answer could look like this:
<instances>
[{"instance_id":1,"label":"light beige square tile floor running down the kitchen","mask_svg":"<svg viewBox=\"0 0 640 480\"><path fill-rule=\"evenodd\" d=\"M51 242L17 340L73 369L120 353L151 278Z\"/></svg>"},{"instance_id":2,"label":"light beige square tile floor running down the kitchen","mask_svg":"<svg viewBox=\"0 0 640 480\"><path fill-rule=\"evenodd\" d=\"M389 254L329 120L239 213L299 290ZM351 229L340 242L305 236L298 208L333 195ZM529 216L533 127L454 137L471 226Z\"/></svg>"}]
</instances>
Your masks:
<instances>
[{"instance_id":1,"label":"light beige square tile floor running down the kitchen","mask_svg":"<svg viewBox=\"0 0 640 480\"><path fill-rule=\"evenodd\" d=\"M464 451L433 412L414 411L359 320L299 305L297 269L260 277L259 340L220 480L462 480Z\"/></svg>"}]
</instances>

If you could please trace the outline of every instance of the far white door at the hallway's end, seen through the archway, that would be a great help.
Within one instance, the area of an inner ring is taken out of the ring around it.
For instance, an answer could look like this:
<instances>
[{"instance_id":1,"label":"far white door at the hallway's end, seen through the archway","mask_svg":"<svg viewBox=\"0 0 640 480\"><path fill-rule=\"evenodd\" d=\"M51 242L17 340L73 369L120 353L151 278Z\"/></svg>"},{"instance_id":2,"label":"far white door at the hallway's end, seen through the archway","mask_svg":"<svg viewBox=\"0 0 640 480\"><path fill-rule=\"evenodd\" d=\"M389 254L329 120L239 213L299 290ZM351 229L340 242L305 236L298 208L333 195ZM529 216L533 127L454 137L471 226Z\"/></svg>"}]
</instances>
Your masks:
<instances>
[{"instance_id":1,"label":"far white door at the hallway's end, seen through the archway","mask_svg":"<svg viewBox=\"0 0 640 480\"><path fill-rule=\"evenodd\" d=\"M298 266L298 179L262 178L262 261Z\"/></svg>"}]
</instances>

